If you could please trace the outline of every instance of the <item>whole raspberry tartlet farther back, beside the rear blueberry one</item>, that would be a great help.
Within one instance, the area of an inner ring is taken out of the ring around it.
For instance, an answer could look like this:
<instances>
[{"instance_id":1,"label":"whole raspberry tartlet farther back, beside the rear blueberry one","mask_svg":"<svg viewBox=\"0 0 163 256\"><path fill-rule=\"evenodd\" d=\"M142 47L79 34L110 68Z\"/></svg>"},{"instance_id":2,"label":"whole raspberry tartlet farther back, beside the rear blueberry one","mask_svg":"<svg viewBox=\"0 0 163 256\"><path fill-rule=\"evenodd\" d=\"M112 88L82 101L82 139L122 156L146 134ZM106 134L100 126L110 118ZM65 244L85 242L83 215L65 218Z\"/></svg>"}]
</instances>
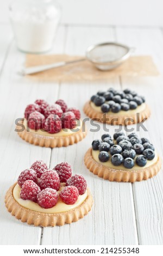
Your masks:
<instances>
[{"instance_id":1,"label":"whole raspberry tartlet farther back, beside the rear blueberry one","mask_svg":"<svg viewBox=\"0 0 163 256\"><path fill-rule=\"evenodd\" d=\"M48 148L67 147L86 136L79 109L68 108L64 100L49 105L39 99L29 104L16 131L30 144Z\"/></svg>"}]
</instances>

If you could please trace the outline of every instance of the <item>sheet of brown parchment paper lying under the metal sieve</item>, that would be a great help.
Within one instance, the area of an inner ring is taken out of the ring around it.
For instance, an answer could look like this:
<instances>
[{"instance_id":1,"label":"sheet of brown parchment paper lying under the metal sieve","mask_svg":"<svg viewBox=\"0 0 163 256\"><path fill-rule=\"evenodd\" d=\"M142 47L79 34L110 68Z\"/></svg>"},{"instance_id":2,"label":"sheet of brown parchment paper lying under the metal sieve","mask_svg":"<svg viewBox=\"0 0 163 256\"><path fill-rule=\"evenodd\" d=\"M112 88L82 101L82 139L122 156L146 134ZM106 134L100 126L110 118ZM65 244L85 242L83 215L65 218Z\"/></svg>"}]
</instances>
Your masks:
<instances>
[{"instance_id":1,"label":"sheet of brown parchment paper lying under the metal sieve","mask_svg":"<svg viewBox=\"0 0 163 256\"><path fill-rule=\"evenodd\" d=\"M51 64L54 62L80 59L81 56L59 55L34 55L28 54L26 57L26 66L36 66ZM158 76L159 71L156 68L151 56L133 56L130 57L118 68L110 71L98 70L92 63L85 60L80 63L66 65L60 68L46 70L37 74L28 75L28 77L39 78L45 81L82 81L82 80L107 80L112 76Z\"/></svg>"}]
</instances>

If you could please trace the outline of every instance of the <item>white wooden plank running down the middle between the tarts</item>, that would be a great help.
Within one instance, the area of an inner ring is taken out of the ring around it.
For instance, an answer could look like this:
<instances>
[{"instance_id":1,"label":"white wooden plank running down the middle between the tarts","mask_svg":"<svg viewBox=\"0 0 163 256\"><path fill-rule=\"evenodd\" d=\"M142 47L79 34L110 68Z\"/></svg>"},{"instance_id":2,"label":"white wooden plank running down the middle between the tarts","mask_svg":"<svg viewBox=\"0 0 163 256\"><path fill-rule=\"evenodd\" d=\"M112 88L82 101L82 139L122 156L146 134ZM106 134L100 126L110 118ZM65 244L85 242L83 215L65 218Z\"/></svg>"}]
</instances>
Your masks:
<instances>
[{"instance_id":1,"label":"white wooden plank running down the middle between the tarts","mask_svg":"<svg viewBox=\"0 0 163 256\"><path fill-rule=\"evenodd\" d=\"M83 108L84 99L101 89L109 87L120 88L119 81L114 78L106 83L63 83L60 86L59 97L65 99L68 106ZM68 90L67 90L68 89ZM66 92L66 98L65 98ZM79 95L79 96L77 96ZM82 113L82 117L85 115ZM51 167L63 161L71 164L73 173L85 176L93 195L92 211L82 220L63 227L44 228L43 245L109 245L137 244L136 222L131 184L109 182L98 178L86 169L84 154L91 147L93 139L104 133L104 127L98 132L88 132L86 138L68 148L52 150ZM87 122L88 130L91 127ZM114 133L113 126L107 126ZM128 209L128 211L126 211ZM80 230L80 239L79 239Z\"/></svg>"}]
</instances>

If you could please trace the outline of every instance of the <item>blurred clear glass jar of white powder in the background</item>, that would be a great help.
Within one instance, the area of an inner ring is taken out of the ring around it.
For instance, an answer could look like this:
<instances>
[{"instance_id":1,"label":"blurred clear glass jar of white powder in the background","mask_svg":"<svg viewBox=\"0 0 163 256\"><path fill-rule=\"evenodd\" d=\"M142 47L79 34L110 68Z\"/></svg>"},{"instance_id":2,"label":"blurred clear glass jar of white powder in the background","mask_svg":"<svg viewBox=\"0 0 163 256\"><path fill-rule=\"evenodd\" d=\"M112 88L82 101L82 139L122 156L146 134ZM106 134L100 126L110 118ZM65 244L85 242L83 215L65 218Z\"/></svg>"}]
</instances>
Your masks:
<instances>
[{"instance_id":1,"label":"blurred clear glass jar of white powder in the background","mask_svg":"<svg viewBox=\"0 0 163 256\"><path fill-rule=\"evenodd\" d=\"M15 0L9 10L20 51L43 53L51 50L61 16L55 0Z\"/></svg>"}]
</instances>

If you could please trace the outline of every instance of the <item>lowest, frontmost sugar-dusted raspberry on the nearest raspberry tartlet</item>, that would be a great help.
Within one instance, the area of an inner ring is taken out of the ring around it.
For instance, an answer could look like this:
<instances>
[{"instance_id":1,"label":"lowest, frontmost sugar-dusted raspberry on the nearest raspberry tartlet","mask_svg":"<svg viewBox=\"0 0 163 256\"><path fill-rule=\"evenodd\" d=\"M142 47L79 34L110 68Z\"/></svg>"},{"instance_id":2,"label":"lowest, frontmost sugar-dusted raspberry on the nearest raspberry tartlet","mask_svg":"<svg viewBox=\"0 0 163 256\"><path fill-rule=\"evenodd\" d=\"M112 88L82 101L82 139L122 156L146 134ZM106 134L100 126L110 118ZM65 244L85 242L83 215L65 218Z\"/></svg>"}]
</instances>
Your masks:
<instances>
[{"instance_id":1,"label":"lowest, frontmost sugar-dusted raspberry on the nearest raspberry tartlet","mask_svg":"<svg viewBox=\"0 0 163 256\"><path fill-rule=\"evenodd\" d=\"M58 193L53 188L45 188L37 195L37 203L45 209L52 208L57 204Z\"/></svg>"}]
</instances>

